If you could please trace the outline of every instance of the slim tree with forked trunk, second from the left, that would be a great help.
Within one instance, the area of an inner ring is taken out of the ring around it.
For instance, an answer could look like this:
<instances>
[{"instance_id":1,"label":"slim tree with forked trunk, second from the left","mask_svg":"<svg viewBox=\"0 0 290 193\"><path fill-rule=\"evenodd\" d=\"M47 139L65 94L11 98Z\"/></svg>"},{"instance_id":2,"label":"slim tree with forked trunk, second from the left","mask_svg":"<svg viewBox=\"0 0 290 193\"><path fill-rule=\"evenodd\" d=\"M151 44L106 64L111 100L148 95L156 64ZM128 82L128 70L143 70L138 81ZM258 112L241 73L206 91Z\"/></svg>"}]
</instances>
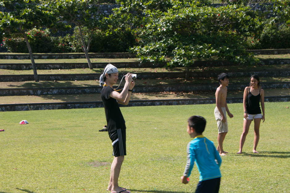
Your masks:
<instances>
[{"instance_id":1,"label":"slim tree with forked trunk, second from the left","mask_svg":"<svg viewBox=\"0 0 290 193\"><path fill-rule=\"evenodd\" d=\"M79 31L79 41L85 53L90 69L93 69L89 59L89 46L93 32L100 27L102 14L99 14L97 0L56 0L52 2L53 9L58 11L61 22L75 25Z\"/></svg>"}]
</instances>

